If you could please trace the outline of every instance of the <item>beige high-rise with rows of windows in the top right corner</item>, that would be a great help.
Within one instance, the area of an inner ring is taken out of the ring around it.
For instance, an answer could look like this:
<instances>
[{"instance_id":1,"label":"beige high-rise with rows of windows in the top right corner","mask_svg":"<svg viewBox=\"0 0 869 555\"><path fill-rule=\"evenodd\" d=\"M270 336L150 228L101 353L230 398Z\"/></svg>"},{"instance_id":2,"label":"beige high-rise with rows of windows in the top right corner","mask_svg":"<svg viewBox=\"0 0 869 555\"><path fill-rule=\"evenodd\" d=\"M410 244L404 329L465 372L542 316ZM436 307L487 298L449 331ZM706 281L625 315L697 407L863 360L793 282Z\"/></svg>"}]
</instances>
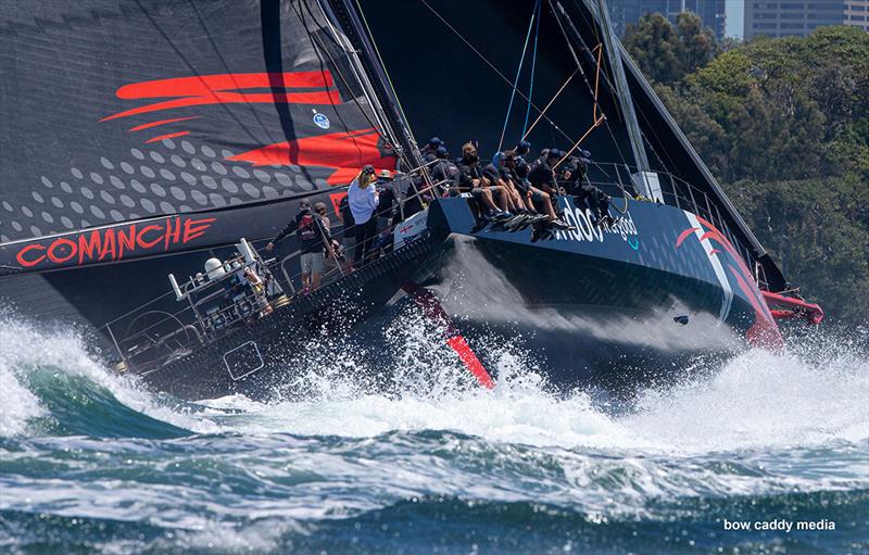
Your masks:
<instances>
[{"instance_id":1,"label":"beige high-rise with rows of windows in the top right corner","mask_svg":"<svg viewBox=\"0 0 869 555\"><path fill-rule=\"evenodd\" d=\"M746 0L744 38L805 37L823 25L855 25L869 30L867 16L869 0Z\"/></svg>"}]
</instances>

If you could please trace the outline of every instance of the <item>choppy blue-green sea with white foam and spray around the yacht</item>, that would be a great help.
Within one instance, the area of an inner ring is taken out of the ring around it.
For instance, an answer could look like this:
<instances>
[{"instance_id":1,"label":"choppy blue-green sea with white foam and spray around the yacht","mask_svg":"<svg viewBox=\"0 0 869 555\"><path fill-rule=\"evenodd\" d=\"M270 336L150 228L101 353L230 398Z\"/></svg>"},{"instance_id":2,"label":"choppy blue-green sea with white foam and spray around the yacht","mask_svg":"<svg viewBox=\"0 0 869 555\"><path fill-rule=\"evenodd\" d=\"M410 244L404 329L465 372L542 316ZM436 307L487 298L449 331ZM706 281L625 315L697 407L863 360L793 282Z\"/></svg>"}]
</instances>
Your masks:
<instances>
[{"instance_id":1,"label":"choppy blue-green sea with white foam and spray around the yacht","mask_svg":"<svg viewBox=\"0 0 869 555\"><path fill-rule=\"evenodd\" d=\"M750 351L614 409L553 392L522 338L478 341L499 382L468 388L442 330L408 312L385 326L388 344L312 344L292 368L308 398L189 404L103 370L73 333L5 324L3 418L14 420L0 438L0 551L867 547L869 367L834 337L813 356ZM366 349L401 365L387 368L398 377L386 393L366 381L381 360ZM52 413L63 388L80 402L62 406L79 414ZM182 433L35 424L119 408ZM725 519L836 528L750 538Z\"/></svg>"}]
</instances>

